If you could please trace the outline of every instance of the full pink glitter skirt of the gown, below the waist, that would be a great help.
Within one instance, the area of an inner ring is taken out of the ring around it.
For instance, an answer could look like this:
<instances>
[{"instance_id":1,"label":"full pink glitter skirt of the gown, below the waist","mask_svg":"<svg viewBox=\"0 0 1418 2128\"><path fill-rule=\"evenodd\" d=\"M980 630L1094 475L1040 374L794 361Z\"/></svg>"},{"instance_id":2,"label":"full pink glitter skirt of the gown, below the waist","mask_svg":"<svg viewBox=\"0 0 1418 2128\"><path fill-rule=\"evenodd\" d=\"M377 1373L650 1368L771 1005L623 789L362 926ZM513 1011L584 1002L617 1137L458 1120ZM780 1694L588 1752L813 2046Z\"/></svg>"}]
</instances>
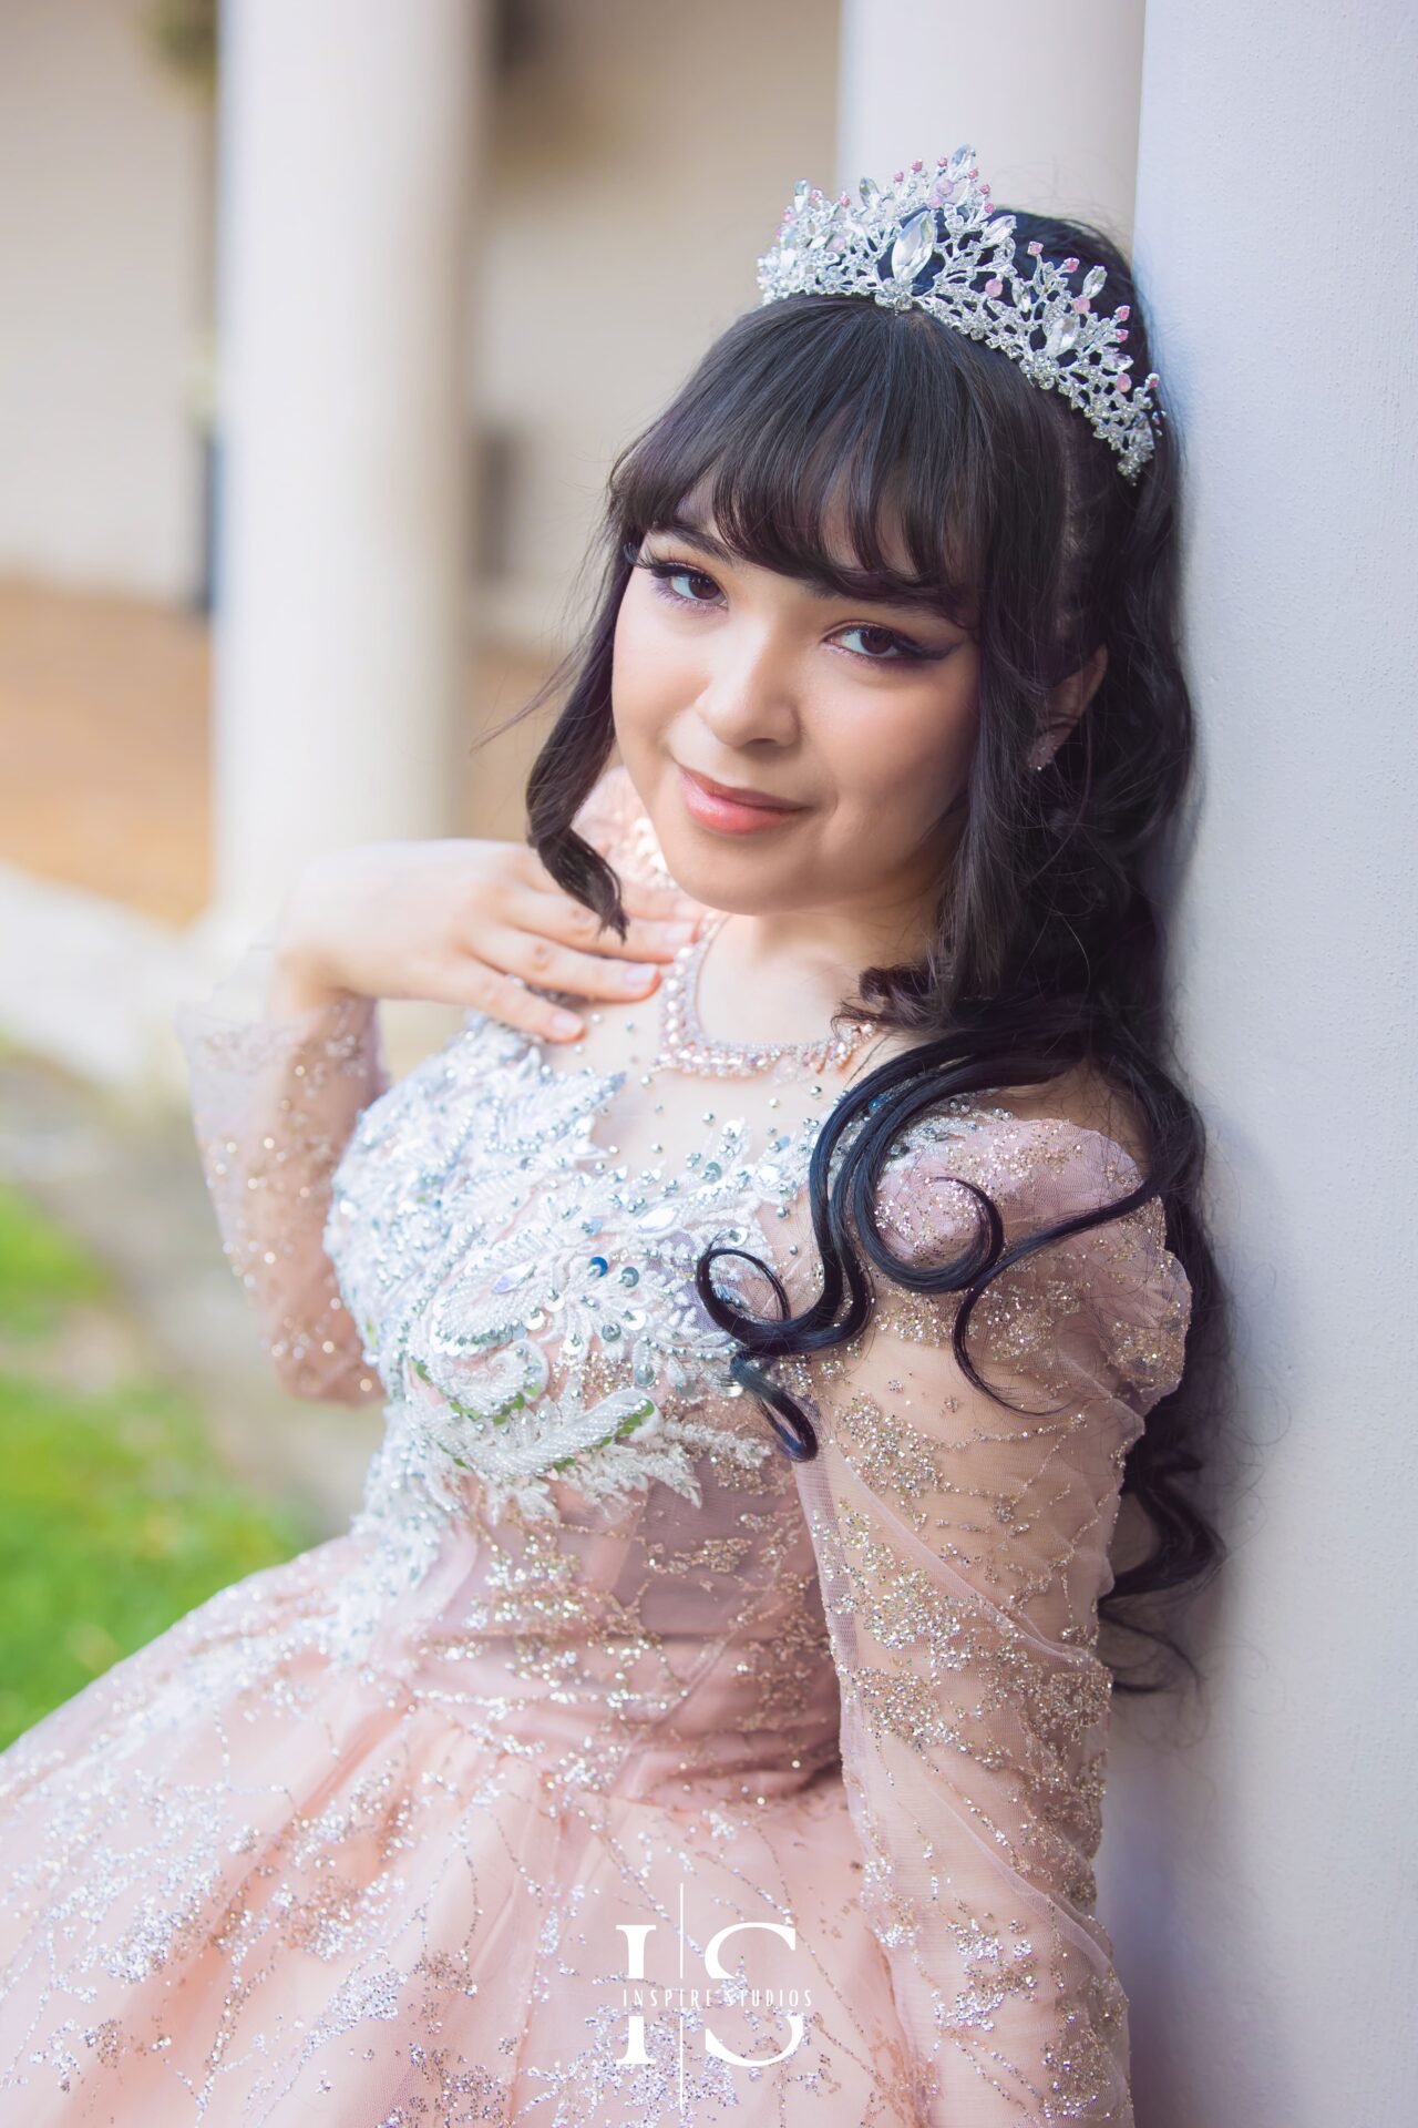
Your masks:
<instances>
[{"instance_id":1,"label":"full pink glitter skirt of the gown, below the waist","mask_svg":"<svg viewBox=\"0 0 1418 2128\"><path fill-rule=\"evenodd\" d=\"M840 1768L578 1785L398 1607L332 1656L359 1570L223 1590L0 1753L0 2122L912 2128Z\"/></svg>"}]
</instances>

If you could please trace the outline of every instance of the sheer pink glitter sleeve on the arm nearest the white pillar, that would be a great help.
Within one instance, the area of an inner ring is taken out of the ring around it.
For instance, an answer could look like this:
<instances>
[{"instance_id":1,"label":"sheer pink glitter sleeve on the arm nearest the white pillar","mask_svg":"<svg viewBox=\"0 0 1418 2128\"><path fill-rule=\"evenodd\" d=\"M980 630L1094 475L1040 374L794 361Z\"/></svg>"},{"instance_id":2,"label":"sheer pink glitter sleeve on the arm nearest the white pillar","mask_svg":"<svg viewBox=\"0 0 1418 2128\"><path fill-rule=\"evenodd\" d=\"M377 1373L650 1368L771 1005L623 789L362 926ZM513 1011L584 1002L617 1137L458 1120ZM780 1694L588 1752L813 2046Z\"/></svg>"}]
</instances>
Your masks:
<instances>
[{"instance_id":1,"label":"sheer pink glitter sleeve on the arm nearest the white pillar","mask_svg":"<svg viewBox=\"0 0 1418 2128\"><path fill-rule=\"evenodd\" d=\"M974 1236L961 1179L999 1204L1006 1245L1140 1179L1112 1138L1057 1119L901 1143L878 1224L931 1264ZM965 1345L1014 1413L950 1349L957 1294L874 1279L861 1339L793 1362L823 1443L797 1470L921 2122L1131 2128L1127 2000L1095 1915L1097 1600L1122 1460L1182 1375L1191 1285L1157 1200L1001 1273Z\"/></svg>"}]
</instances>

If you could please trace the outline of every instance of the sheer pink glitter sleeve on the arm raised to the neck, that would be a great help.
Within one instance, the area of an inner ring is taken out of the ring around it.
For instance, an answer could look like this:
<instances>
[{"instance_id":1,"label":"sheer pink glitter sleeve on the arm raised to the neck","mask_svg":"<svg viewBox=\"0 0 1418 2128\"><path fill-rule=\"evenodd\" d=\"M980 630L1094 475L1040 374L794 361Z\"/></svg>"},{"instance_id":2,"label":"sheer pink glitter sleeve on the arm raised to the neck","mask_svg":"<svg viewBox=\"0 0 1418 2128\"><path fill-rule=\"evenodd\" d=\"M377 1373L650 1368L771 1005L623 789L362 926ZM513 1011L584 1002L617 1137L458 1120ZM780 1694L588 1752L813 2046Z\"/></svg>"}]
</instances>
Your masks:
<instances>
[{"instance_id":1,"label":"sheer pink glitter sleeve on the arm raised to the neck","mask_svg":"<svg viewBox=\"0 0 1418 2128\"><path fill-rule=\"evenodd\" d=\"M366 1404L383 1385L323 1230L351 1132L389 1087L378 1004L344 996L268 1019L259 996L270 960L270 941L257 941L210 998L189 998L174 1015L198 1151L276 1375L298 1396Z\"/></svg>"}]
</instances>

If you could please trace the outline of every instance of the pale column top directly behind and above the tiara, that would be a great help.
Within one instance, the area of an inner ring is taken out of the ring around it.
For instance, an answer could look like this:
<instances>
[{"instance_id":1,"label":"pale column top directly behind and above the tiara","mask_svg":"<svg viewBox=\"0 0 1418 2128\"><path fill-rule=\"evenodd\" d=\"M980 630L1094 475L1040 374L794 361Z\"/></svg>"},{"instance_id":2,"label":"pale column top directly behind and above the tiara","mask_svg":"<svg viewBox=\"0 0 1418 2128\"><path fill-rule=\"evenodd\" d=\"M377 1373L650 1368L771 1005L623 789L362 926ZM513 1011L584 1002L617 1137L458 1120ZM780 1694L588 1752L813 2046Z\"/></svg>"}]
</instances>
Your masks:
<instances>
[{"instance_id":1,"label":"pale column top directly behind and above the tiara","mask_svg":"<svg viewBox=\"0 0 1418 2128\"><path fill-rule=\"evenodd\" d=\"M1001 206L1084 215L1127 249L1142 13L1144 0L842 0L838 189L967 140Z\"/></svg>"}]
</instances>

